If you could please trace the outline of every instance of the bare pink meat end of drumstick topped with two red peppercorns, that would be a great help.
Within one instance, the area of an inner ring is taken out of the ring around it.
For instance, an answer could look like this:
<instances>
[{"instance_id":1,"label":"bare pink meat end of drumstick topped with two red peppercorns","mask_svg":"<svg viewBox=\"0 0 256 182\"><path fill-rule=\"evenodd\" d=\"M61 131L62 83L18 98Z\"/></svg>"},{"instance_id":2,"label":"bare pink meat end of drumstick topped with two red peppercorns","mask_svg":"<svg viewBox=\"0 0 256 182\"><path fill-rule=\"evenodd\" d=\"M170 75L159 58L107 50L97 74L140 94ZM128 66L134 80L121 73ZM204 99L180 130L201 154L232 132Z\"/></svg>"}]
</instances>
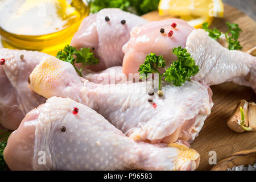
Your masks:
<instances>
[{"instance_id":1,"label":"bare pink meat end of drumstick topped with two red peppercorns","mask_svg":"<svg viewBox=\"0 0 256 182\"><path fill-rule=\"evenodd\" d=\"M177 27L173 28L172 23L176 23ZM160 33L160 28L164 28L164 34ZM122 48L125 53L123 73L126 75L137 73L139 65L144 63L146 56L151 52L163 55L164 60L167 61L166 66L170 67L172 61L176 59L171 52L172 49L179 46L185 48L187 37L194 29L181 19L166 19L133 28L129 42ZM168 32L171 30L174 31L174 35L168 37Z\"/></svg>"}]
</instances>

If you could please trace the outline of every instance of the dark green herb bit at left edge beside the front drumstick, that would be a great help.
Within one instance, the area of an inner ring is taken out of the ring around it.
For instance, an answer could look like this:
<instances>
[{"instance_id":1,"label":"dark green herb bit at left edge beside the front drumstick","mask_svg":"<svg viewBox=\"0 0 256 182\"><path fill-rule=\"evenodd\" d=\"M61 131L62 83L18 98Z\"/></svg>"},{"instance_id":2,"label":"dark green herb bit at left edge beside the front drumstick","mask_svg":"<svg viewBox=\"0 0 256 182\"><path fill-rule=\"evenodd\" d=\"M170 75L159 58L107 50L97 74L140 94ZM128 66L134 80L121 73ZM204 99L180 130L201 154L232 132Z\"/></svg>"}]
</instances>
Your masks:
<instances>
[{"instance_id":1,"label":"dark green herb bit at left edge beside the front drumstick","mask_svg":"<svg viewBox=\"0 0 256 182\"><path fill-rule=\"evenodd\" d=\"M5 160L3 159L3 151L5 150L7 139L9 138L10 134L9 132L5 132L0 130L3 134L0 135L0 171L7 171L9 170L9 167L5 163Z\"/></svg>"}]
</instances>

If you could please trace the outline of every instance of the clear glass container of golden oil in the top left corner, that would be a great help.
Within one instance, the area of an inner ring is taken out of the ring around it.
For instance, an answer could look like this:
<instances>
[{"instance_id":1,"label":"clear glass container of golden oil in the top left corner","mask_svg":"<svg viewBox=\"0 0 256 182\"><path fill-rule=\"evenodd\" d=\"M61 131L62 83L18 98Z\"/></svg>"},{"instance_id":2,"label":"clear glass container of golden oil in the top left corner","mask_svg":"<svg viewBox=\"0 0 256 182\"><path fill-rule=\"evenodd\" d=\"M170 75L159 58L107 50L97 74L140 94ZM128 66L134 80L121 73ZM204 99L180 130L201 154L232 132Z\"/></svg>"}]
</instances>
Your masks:
<instances>
[{"instance_id":1,"label":"clear glass container of golden oil in the top left corner","mask_svg":"<svg viewBox=\"0 0 256 182\"><path fill-rule=\"evenodd\" d=\"M88 14L82 0L0 0L3 47L56 55Z\"/></svg>"}]
</instances>

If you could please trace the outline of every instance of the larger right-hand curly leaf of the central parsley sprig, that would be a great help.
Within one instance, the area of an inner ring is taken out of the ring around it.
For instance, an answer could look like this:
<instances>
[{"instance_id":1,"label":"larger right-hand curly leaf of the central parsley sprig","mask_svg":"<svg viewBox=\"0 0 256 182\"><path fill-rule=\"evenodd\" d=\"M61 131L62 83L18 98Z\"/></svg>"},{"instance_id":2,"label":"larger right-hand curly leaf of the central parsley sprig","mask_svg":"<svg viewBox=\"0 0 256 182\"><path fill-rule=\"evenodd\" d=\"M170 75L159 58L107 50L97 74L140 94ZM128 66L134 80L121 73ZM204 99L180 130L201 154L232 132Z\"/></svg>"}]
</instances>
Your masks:
<instances>
[{"instance_id":1,"label":"larger right-hand curly leaf of the central parsley sprig","mask_svg":"<svg viewBox=\"0 0 256 182\"><path fill-rule=\"evenodd\" d=\"M177 56L177 61L172 63L171 67L163 73L165 80L172 82L174 86L181 86L185 81L190 81L192 76L199 72L199 66L191 57L187 49L180 46L172 49L172 52Z\"/></svg>"}]
</instances>

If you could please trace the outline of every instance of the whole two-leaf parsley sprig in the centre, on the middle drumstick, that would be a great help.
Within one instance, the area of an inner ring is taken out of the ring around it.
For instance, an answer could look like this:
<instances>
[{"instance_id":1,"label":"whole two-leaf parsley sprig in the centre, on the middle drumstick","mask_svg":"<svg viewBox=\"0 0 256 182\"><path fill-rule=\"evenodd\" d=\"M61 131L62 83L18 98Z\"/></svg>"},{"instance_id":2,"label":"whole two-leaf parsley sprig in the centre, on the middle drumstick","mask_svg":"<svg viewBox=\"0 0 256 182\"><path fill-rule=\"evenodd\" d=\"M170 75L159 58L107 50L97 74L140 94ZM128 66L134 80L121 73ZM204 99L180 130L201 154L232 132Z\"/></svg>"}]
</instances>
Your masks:
<instances>
[{"instance_id":1,"label":"whole two-leaf parsley sprig in the centre, on the middle drumstick","mask_svg":"<svg viewBox=\"0 0 256 182\"><path fill-rule=\"evenodd\" d=\"M165 77L165 80L174 86L181 86L185 81L190 81L191 77L199 72L199 66L196 65L195 60L187 52L187 49L179 46L172 49L172 52L177 56L177 61L174 61L171 67L166 69L166 72L163 74L158 71L158 68L166 67L166 61L163 59L163 56L156 56L155 53L147 55L144 64L140 65L138 70L141 78L147 78L150 73L158 73L159 90L161 89L162 77Z\"/></svg>"}]
</instances>

